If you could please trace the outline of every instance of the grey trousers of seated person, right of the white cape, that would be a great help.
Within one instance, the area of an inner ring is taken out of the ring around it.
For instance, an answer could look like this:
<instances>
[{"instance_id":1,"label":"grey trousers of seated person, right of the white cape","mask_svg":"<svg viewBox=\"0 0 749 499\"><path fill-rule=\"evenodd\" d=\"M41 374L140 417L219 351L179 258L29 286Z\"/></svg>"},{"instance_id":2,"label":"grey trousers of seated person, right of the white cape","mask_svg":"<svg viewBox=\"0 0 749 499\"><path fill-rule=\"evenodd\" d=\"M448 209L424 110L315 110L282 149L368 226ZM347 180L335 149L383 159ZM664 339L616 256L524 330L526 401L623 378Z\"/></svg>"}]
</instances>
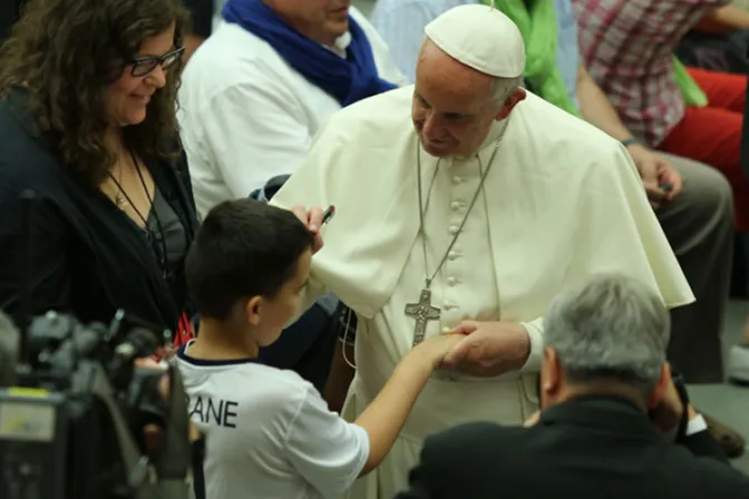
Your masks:
<instances>
[{"instance_id":1,"label":"grey trousers of seated person, right of the white cape","mask_svg":"<svg viewBox=\"0 0 749 499\"><path fill-rule=\"evenodd\" d=\"M717 170L668 156L684 189L656 212L697 302L671 312L669 361L689 383L723 380L722 321L733 253L731 190Z\"/></svg>"}]
</instances>

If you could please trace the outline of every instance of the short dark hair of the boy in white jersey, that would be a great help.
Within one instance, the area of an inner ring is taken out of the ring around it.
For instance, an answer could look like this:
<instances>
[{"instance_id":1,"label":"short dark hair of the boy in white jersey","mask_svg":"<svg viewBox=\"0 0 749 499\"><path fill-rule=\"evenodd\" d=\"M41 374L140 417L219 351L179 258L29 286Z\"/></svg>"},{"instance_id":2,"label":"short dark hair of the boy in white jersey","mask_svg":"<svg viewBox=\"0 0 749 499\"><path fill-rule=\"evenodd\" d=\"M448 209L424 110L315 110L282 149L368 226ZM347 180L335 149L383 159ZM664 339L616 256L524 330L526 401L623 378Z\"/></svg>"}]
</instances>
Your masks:
<instances>
[{"instance_id":1,"label":"short dark hair of the boy in white jersey","mask_svg":"<svg viewBox=\"0 0 749 499\"><path fill-rule=\"evenodd\" d=\"M197 311L223 321L239 300L275 296L313 237L292 212L265 203L237 199L214 207L185 262Z\"/></svg>"}]
</instances>

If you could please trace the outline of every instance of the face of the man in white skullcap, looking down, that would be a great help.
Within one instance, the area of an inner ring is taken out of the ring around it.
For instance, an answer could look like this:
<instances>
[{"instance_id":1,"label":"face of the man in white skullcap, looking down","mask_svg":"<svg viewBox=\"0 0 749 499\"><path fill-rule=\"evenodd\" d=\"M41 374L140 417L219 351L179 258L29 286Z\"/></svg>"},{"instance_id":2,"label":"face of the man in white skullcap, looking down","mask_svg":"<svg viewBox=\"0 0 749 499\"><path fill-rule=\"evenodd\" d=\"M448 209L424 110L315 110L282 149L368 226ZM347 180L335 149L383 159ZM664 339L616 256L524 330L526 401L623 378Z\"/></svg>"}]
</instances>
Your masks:
<instances>
[{"instance_id":1,"label":"face of the man in white skullcap, looking down","mask_svg":"<svg viewBox=\"0 0 749 499\"><path fill-rule=\"evenodd\" d=\"M416 68L411 117L425 150L436 157L474 155L492 124L506 117L495 79L427 41Z\"/></svg>"}]
</instances>

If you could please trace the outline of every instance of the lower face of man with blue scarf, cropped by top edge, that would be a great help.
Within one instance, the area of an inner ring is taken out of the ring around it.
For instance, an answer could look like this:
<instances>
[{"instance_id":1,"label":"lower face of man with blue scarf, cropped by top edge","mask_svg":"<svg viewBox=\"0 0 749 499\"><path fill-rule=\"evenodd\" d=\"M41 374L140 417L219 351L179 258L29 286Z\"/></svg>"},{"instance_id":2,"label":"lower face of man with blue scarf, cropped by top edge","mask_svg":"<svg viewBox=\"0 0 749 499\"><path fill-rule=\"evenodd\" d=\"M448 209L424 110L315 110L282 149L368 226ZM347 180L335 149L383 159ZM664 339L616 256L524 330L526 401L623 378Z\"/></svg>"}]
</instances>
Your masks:
<instances>
[{"instance_id":1,"label":"lower face of man with blue scarf, cropped by top edge","mask_svg":"<svg viewBox=\"0 0 749 499\"><path fill-rule=\"evenodd\" d=\"M292 28L323 45L349 30L351 0L268 0Z\"/></svg>"}]
</instances>

